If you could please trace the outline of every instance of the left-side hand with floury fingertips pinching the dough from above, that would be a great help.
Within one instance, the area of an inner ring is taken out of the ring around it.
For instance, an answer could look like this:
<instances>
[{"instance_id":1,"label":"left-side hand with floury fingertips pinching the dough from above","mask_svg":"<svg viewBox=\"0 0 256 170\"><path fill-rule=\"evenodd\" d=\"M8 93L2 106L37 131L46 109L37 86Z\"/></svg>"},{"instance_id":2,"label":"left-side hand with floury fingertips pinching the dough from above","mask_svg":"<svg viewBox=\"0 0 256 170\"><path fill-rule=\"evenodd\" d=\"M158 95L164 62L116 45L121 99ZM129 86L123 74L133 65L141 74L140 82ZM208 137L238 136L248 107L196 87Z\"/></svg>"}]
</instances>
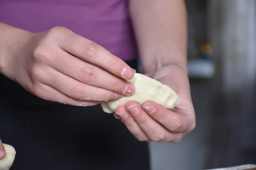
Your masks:
<instances>
[{"instance_id":1,"label":"left-side hand with floury fingertips pinching the dough from above","mask_svg":"<svg viewBox=\"0 0 256 170\"><path fill-rule=\"evenodd\" d=\"M27 37L12 52L5 73L30 93L76 106L134 94L126 81L133 69L95 42L63 27Z\"/></svg>"}]
</instances>

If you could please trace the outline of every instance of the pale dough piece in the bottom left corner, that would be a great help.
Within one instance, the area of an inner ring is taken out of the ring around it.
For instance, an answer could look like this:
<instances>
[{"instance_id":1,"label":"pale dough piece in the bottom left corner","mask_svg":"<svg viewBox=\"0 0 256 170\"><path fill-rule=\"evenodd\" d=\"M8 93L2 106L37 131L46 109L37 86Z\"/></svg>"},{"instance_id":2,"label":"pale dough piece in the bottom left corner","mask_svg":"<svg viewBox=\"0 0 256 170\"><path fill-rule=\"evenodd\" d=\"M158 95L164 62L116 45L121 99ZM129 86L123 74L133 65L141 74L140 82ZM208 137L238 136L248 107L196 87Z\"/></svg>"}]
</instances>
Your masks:
<instances>
[{"instance_id":1,"label":"pale dough piece in the bottom left corner","mask_svg":"<svg viewBox=\"0 0 256 170\"><path fill-rule=\"evenodd\" d=\"M3 159L0 159L0 170L9 170L15 159L16 151L15 148L9 144L3 144L3 147L6 151L6 155Z\"/></svg>"}]
</instances>

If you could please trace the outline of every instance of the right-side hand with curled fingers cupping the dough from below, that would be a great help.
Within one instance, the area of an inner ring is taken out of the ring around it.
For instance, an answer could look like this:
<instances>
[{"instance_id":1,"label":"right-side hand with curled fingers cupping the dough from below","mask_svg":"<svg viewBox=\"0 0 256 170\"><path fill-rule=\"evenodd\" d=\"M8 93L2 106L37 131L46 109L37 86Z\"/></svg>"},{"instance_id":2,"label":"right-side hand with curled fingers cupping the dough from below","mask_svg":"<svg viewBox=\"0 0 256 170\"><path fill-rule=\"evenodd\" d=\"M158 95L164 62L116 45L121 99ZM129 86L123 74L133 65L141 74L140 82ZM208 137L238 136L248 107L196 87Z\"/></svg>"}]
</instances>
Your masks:
<instances>
[{"instance_id":1,"label":"right-side hand with curled fingers cupping the dough from below","mask_svg":"<svg viewBox=\"0 0 256 170\"><path fill-rule=\"evenodd\" d=\"M140 141L179 142L195 128L187 72L178 65L168 65L149 76L169 85L180 97L180 104L169 110L152 101L142 105L131 101L116 108L114 116Z\"/></svg>"}]
</instances>

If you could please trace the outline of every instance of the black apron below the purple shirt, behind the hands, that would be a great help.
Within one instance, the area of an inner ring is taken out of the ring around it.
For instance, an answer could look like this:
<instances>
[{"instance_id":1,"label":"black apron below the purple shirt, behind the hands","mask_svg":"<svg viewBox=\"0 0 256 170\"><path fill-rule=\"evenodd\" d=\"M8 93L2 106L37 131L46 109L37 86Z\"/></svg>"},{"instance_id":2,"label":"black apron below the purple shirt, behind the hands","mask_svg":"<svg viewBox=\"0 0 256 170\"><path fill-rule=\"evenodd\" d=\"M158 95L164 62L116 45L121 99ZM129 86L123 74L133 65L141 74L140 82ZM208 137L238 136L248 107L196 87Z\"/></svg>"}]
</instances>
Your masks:
<instances>
[{"instance_id":1,"label":"black apron below the purple shirt, behind the hands","mask_svg":"<svg viewBox=\"0 0 256 170\"><path fill-rule=\"evenodd\" d=\"M2 75L0 138L17 151L11 170L150 169L148 143L137 141L100 105L39 99Z\"/></svg>"}]
</instances>

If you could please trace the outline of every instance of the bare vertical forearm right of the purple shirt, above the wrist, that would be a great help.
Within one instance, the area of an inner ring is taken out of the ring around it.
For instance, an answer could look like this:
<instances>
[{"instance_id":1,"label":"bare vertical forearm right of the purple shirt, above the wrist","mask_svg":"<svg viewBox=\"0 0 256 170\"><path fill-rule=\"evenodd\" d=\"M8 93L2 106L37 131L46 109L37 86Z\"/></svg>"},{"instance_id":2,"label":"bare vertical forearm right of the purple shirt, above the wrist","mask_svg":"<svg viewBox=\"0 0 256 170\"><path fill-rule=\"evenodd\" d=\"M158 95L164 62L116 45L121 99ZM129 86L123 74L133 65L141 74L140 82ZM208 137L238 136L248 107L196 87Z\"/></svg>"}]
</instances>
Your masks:
<instances>
[{"instance_id":1,"label":"bare vertical forearm right of the purple shirt, above the wrist","mask_svg":"<svg viewBox=\"0 0 256 170\"><path fill-rule=\"evenodd\" d=\"M130 0L131 20L144 73L166 65L187 70L187 20L183 0Z\"/></svg>"}]
</instances>

